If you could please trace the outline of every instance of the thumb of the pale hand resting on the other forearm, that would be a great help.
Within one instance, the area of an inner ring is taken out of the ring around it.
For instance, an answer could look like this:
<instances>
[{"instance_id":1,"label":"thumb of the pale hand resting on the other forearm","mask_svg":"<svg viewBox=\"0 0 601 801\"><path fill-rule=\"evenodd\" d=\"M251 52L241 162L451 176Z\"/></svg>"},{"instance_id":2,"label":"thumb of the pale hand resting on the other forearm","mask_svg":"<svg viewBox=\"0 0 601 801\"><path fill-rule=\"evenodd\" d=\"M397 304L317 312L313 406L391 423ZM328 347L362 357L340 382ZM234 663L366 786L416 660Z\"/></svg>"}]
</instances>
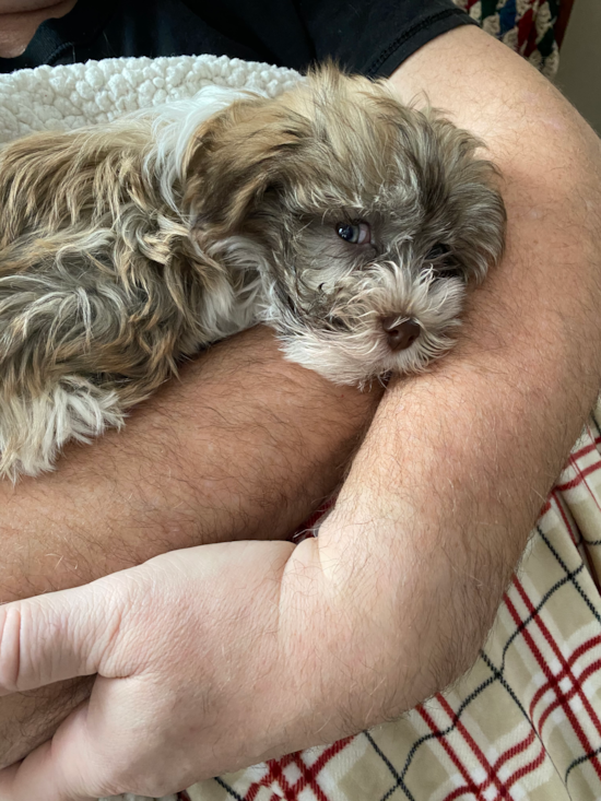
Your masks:
<instances>
[{"instance_id":1,"label":"thumb of the pale hand resting on the other forearm","mask_svg":"<svg viewBox=\"0 0 601 801\"><path fill-rule=\"evenodd\" d=\"M0 606L0 696L97 673L126 598L99 579Z\"/></svg>"}]
</instances>

